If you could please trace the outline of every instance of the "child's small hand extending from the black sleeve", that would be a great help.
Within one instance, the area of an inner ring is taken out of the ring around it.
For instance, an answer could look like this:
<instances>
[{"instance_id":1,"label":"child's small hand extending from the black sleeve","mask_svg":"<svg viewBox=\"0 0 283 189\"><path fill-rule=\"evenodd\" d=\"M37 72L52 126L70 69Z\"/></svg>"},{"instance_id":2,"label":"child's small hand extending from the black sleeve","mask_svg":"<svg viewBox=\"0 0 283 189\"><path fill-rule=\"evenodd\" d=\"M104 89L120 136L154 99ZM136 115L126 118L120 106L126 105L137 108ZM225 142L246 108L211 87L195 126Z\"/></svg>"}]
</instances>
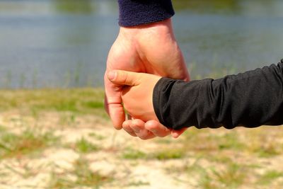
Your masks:
<instances>
[{"instance_id":1,"label":"child's small hand extending from the black sleeve","mask_svg":"<svg viewBox=\"0 0 283 189\"><path fill-rule=\"evenodd\" d=\"M108 79L122 88L124 108L134 119L158 120L154 113L154 86L161 76L115 70L108 73Z\"/></svg>"}]
</instances>

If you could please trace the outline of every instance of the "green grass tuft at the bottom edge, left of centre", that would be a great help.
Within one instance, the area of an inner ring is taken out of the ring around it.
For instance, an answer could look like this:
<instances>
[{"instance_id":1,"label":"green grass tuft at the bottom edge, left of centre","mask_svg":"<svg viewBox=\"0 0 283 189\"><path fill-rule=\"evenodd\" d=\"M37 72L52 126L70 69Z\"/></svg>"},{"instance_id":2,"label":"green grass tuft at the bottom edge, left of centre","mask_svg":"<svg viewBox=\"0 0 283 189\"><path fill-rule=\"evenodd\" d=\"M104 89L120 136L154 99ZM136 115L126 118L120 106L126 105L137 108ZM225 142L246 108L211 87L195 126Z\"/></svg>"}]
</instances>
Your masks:
<instances>
[{"instance_id":1,"label":"green grass tuft at the bottom edge, left of centre","mask_svg":"<svg viewBox=\"0 0 283 189\"><path fill-rule=\"evenodd\" d=\"M74 163L74 170L64 174L52 173L48 188L100 188L113 181L112 176L102 176L91 171L89 162L82 157Z\"/></svg>"}]
</instances>

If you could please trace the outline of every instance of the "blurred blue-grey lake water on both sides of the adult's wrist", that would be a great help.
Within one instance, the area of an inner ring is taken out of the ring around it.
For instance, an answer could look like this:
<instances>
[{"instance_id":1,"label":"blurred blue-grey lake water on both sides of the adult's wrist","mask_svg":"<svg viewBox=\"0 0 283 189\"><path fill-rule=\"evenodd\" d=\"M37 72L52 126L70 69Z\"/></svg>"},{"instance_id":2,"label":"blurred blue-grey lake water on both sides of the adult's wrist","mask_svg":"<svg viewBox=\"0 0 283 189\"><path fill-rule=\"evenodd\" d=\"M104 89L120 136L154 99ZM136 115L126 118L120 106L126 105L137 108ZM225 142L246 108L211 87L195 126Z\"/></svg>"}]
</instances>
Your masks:
<instances>
[{"instance_id":1,"label":"blurred blue-grey lake water on both sides of the adult's wrist","mask_svg":"<svg viewBox=\"0 0 283 189\"><path fill-rule=\"evenodd\" d=\"M175 0L173 25L193 79L283 58L283 1ZM116 1L0 1L0 88L103 86Z\"/></svg>"}]
</instances>

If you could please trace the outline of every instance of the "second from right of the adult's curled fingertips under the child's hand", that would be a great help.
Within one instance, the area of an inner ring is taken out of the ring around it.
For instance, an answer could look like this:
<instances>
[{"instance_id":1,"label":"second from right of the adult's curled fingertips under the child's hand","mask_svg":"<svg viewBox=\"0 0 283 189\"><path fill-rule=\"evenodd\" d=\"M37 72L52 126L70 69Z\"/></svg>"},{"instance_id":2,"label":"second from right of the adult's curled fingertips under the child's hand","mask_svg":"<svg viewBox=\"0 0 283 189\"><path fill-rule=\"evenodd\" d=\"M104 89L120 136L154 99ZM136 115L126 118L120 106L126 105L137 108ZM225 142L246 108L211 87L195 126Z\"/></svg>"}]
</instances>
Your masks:
<instances>
[{"instance_id":1,"label":"second from right of the adult's curled fingertips under the child's hand","mask_svg":"<svg viewBox=\"0 0 283 189\"><path fill-rule=\"evenodd\" d=\"M152 132L156 137L166 137L171 133L171 130L169 130L167 127L156 120L149 120L148 122L146 122L144 127L146 128L146 130Z\"/></svg>"}]
</instances>

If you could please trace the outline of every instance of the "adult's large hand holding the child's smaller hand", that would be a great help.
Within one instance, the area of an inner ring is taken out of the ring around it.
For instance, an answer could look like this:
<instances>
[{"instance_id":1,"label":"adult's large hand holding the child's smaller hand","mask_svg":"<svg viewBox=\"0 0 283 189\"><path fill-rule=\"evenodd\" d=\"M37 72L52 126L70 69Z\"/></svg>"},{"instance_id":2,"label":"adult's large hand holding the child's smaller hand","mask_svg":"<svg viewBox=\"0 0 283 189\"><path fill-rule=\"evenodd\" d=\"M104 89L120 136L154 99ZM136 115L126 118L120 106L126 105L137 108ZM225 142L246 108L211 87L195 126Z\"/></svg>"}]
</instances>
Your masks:
<instances>
[{"instance_id":1,"label":"adult's large hand holding the child's smaller hand","mask_svg":"<svg viewBox=\"0 0 283 189\"><path fill-rule=\"evenodd\" d=\"M170 134L171 130L156 120L125 121L121 98L122 86L112 84L107 78L108 72L114 69L188 80L189 74L182 52L173 35L171 19L149 25L121 27L110 49L104 77L105 110L117 130L123 127L129 134L141 139L165 137ZM173 137L178 137L181 133L173 131Z\"/></svg>"}]
</instances>

